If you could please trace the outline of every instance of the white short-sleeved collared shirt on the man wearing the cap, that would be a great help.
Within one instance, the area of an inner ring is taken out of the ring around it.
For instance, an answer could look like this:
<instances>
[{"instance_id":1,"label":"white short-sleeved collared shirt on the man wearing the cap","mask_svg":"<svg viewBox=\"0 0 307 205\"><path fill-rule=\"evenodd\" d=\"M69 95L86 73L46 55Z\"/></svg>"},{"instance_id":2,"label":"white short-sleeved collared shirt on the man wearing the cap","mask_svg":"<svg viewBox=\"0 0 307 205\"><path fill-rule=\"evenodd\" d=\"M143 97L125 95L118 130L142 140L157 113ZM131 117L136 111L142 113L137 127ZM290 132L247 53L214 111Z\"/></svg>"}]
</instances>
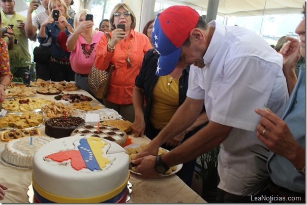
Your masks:
<instances>
[{"instance_id":1,"label":"white short-sleeved collared shirt on the man wearing the cap","mask_svg":"<svg viewBox=\"0 0 307 205\"><path fill-rule=\"evenodd\" d=\"M264 191L267 148L257 139L255 108L281 116L289 99L283 57L256 33L238 26L215 27L203 69L191 65L187 96L205 99L210 121L233 129L221 144L219 188L236 195ZM192 80L193 79L193 80Z\"/></svg>"}]
</instances>

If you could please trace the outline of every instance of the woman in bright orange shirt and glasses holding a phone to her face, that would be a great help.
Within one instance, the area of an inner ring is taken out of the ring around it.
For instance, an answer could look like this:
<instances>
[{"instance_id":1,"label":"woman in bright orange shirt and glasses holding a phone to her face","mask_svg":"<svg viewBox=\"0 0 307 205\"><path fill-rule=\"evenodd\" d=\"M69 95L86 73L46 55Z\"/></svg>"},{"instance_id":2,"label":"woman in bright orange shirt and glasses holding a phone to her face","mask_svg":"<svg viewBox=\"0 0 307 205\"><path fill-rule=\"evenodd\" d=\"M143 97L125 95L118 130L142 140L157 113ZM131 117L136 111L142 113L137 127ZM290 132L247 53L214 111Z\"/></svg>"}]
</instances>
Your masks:
<instances>
[{"instance_id":1,"label":"woman in bright orange shirt and glasses holding a phone to her face","mask_svg":"<svg viewBox=\"0 0 307 205\"><path fill-rule=\"evenodd\" d=\"M140 71L145 53L152 47L147 36L134 30L136 17L127 4L117 4L109 21L111 41L107 42L106 35L101 37L95 60L95 66L100 70L106 70L109 63L115 66L104 105L133 122L132 92L135 78ZM124 24L125 30L118 28L118 24Z\"/></svg>"}]
</instances>

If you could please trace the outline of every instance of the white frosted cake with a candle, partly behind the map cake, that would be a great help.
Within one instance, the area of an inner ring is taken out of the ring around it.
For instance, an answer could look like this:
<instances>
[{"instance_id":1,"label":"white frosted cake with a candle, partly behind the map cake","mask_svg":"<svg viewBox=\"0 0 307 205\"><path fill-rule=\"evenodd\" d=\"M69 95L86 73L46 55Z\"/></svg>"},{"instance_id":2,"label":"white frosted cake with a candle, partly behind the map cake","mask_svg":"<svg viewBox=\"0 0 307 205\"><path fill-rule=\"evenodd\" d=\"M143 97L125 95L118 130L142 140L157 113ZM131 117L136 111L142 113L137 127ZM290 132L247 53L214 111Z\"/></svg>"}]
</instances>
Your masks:
<instances>
[{"instance_id":1,"label":"white frosted cake with a candle, partly behind the map cake","mask_svg":"<svg viewBox=\"0 0 307 205\"><path fill-rule=\"evenodd\" d=\"M44 144L54 140L49 136L24 136L16 140L9 141L2 152L2 158L9 164L19 167L32 167L34 153Z\"/></svg>"}]
</instances>

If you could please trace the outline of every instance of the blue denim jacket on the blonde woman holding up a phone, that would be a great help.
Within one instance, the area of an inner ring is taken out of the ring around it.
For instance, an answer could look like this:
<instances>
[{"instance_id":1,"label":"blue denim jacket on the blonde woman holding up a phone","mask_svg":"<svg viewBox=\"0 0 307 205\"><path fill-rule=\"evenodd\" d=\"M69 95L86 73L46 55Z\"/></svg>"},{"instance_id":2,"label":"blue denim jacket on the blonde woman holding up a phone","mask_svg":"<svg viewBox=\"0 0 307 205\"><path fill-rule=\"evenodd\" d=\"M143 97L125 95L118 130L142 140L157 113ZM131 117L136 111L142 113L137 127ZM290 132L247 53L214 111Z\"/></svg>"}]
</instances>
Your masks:
<instances>
[{"instance_id":1,"label":"blue denim jacket on the blonde woman holding up a phone","mask_svg":"<svg viewBox=\"0 0 307 205\"><path fill-rule=\"evenodd\" d=\"M72 27L74 27L74 19L69 18L69 19L67 19L67 22ZM52 42L51 42L51 47L52 47L52 49L51 49L51 56L53 58L56 58L56 59L69 59L70 52L64 51L62 49L62 47L60 47L57 44L57 42L56 42L57 41L58 33L60 32L60 29L57 26L57 23L53 22L53 23L48 24L46 26L46 31L45 32L46 32L45 37L40 37L39 34L37 35L38 42L40 44L47 43L49 37L51 37L51 39L52 39ZM66 33L67 36L70 35L70 32L68 31L68 28L65 29L65 33Z\"/></svg>"}]
</instances>

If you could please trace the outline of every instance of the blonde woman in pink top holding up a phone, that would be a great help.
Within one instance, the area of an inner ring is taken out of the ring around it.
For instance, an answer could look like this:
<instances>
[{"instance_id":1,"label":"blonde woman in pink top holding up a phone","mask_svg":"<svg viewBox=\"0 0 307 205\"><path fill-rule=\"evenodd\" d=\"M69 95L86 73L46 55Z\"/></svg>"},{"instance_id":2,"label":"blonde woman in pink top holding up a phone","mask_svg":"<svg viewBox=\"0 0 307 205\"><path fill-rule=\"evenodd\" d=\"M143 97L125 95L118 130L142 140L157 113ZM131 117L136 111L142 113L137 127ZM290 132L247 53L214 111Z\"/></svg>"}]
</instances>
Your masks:
<instances>
[{"instance_id":1,"label":"blonde woman in pink top holding up a phone","mask_svg":"<svg viewBox=\"0 0 307 205\"><path fill-rule=\"evenodd\" d=\"M90 14L90 11L82 9L75 15L75 31L69 36L66 45L67 50L71 52L70 63L75 72L76 84L94 96L86 84L87 74L94 64L96 47L104 33L93 29L93 21L85 21L86 14Z\"/></svg>"}]
</instances>

